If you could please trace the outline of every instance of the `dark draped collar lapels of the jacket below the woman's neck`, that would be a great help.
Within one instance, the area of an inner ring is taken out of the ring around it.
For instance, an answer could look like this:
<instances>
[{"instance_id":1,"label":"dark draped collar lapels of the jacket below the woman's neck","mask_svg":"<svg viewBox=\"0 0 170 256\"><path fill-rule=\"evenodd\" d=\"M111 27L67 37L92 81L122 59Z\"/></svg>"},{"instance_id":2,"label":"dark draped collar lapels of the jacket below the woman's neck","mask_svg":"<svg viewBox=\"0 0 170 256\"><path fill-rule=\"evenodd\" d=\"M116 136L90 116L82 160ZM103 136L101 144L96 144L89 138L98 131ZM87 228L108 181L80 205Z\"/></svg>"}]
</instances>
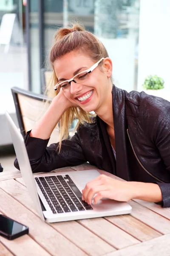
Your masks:
<instances>
[{"instance_id":1,"label":"dark draped collar lapels of the jacket below the woman's neck","mask_svg":"<svg viewBox=\"0 0 170 256\"><path fill-rule=\"evenodd\" d=\"M113 174L122 179L129 180L129 166L127 158L127 124L125 114L125 91L113 85L113 121L116 143L116 170L113 150L109 140L107 126L102 119L99 118L100 127L105 140L108 155L111 160Z\"/></svg>"}]
</instances>

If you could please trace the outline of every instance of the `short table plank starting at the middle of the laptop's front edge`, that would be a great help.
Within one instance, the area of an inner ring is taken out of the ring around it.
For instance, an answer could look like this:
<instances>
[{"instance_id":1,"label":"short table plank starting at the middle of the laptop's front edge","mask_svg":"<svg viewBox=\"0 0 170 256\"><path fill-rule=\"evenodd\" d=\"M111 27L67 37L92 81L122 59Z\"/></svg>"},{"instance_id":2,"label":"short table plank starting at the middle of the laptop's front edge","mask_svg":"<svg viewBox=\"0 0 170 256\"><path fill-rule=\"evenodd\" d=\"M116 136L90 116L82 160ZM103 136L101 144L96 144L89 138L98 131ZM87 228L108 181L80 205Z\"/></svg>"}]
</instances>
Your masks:
<instances>
[{"instance_id":1,"label":"short table plank starting at the middle of the laptop's front edge","mask_svg":"<svg viewBox=\"0 0 170 256\"><path fill-rule=\"evenodd\" d=\"M101 237L116 249L140 243L139 240L130 236L104 218L84 219L77 222L94 232L97 236Z\"/></svg>"}]
</instances>

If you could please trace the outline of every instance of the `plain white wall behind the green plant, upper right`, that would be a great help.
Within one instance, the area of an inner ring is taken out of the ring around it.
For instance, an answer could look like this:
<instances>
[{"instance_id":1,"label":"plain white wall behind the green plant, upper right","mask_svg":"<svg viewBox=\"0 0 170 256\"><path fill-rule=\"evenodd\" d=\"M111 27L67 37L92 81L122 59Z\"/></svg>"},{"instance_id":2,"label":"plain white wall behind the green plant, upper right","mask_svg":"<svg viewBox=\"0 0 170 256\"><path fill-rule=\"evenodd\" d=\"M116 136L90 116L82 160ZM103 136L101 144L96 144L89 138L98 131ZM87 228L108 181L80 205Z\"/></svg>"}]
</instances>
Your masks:
<instances>
[{"instance_id":1,"label":"plain white wall behind the green plant, upper right","mask_svg":"<svg viewBox=\"0 0 170 256\"><path fill-rule=\"evenodd\" d=\"M170 0L141 0L139 18L138 90L147 75L164 79L170 100Z\"/></svg>"}]
</instances>

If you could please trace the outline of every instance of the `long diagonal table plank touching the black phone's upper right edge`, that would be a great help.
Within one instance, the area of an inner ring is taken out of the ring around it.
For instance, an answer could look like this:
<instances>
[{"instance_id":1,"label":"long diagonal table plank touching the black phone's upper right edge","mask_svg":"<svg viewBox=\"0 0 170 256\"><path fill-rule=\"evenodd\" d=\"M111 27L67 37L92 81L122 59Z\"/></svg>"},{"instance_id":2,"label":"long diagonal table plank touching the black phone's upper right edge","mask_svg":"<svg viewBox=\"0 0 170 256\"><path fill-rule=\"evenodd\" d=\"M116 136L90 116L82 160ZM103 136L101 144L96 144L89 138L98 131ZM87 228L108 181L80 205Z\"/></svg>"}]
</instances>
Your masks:
<instances>
[{"instance_id":1,"label":"long diagonal table plank touching the black phone's upper right edge","mask_svg":"<svg viewBox=\"0 0 170 256\"><path fill-rule=\"evenodd\" d=\"M87 255L37 215L0 189L0 210L29 227L29 235L51 255ZM17 218L16 218L17 216Z\"/></svg>"}]
</instances>

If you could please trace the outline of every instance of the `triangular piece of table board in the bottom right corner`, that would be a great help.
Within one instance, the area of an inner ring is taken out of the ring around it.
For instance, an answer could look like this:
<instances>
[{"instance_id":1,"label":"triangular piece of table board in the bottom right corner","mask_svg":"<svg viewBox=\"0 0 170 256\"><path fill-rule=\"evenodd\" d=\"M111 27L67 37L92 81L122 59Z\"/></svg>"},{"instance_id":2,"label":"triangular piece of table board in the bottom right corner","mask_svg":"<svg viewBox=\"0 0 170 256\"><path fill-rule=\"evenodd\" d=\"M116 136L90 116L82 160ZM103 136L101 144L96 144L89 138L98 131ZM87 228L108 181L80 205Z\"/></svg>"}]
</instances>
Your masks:
<instances>
[{"instance_id":1,"label":"triangular piece of table board in the bottom right corner","mask_svg":"<svg viewBox=\"0 0 170 256\"><path fill-rule=\"evenodd\" d=\"M169 256L170 234L136 244L122 250L105 254L105 256Z\"/></svg>"}]
</instances>

